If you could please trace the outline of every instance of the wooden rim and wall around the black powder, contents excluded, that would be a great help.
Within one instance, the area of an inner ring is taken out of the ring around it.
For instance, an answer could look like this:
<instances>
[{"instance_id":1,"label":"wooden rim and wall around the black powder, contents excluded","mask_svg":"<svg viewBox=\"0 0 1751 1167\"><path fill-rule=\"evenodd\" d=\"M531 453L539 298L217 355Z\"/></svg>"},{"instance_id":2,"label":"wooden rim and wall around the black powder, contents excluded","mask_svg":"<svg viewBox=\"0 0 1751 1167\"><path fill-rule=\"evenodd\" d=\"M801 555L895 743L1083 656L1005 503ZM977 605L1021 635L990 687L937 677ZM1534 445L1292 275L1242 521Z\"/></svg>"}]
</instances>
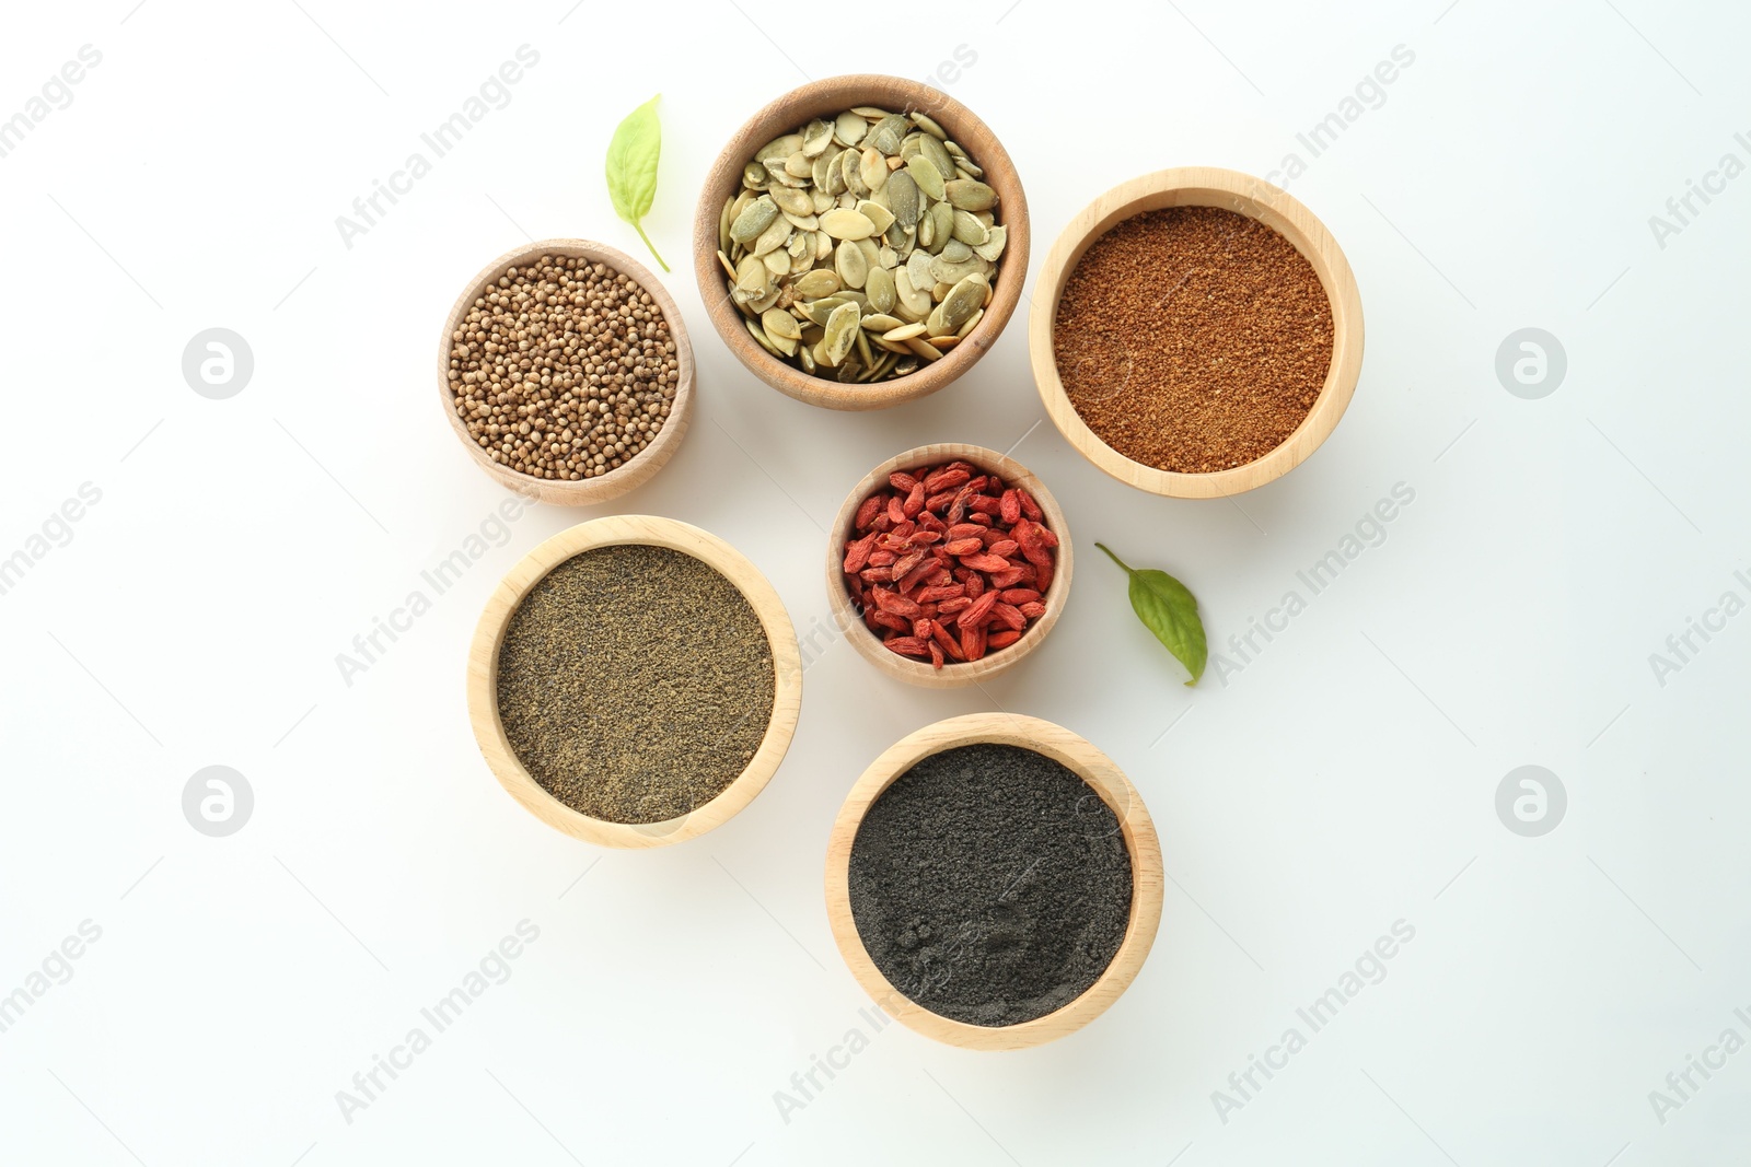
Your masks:
<instances>
[{"instance_id":1,"label":"wooden rim and wall around the black powder, contents excluded","mask_svg":"<svg viewBox=\"0 0 1751 1167\"><path fill-rule=\"evenodd\" d=\"M914 1003L876 968L876 961L863 948L856 919L851 915L851 845L863 824L863 815L895 779L925 758L958 745L977 744L1019 745L1075 770L1112 807L1124 835L1124 847L1131 854L1131 917L1112 964L1070 1004L1017 1025L972 1025L932 1013ZM1117 1001L1119 994L1136 980L1136 973L1143 968L1143 959L1156 941L1156 927L1161 924L1161 842L1156 838L1156 824L1149 817L1149 808L1143 807L1142 794L1124 777L1124 772L1107 754L1070 730L1051 721L1016 714L951 717L890 745L851 787L851 794L839 808L839 819L833 822L833 833L826 845L826 919L851 975L888 1017L926 1038L965 1050L1023 1050L1044 1045L1082 1029L1105 1013L1107 1006Z\"/></svg>"}]
</instances>

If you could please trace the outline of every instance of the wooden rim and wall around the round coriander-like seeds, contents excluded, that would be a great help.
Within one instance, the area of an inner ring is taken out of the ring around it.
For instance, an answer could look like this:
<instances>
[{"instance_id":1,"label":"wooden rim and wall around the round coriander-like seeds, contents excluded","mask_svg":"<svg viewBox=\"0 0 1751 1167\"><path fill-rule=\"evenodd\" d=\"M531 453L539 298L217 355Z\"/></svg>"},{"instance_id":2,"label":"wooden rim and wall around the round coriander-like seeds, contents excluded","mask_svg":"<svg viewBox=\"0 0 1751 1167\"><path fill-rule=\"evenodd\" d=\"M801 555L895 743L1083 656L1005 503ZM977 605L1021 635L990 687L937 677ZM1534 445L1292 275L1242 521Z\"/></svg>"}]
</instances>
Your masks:
<instances>
[{"instance_id":1,"label":"wooden rim and wall around the round coriander-like seeds, contents excluded","mask_svg":"<svg viewBox=\"0 0 1751 1167\"><path fill-rule=\"evenodd\" d=\"M681 380L676 381L674 401L669 404L669 418L664 422L662 429L657 430L657 437L644 446L630 462L623 462L618 469L606 474L597 474L595 478L583 478L578 481L557 481L550 478L536 478L532 474L524 474L513 471L508 465L501 465L480 448L480 443L468 436L468 427L462 425L462 418L455 413L455 392L450 388L450 346L454 343L455 331L462 327L462 317L468 315L475 301L485 294L487 283L497 280L506 268L517 264L518 268L525 262L534 262L543 255L576 255L578 259L588 259L590 262L602 262L630 276L641 289L651 294L657 306L662 308L664 322L669 325L669 336L674 338L674 353L681 362ZM674 451L681 448L681 437L686 436L686 427L693 420L693 346L686 339L686 324L681 320L681 310L676 306L674 297L669 296L657 276L653 276L643 264L618 252L613 247L602 243L592 243L588 240L541 240L539 243L531 243L529 247L518 247L517 250L504 252L490 264L480 269L462 294L457 297L455 306L450 310L450 317L443 324L443 336L438 341L438 401L443 404L445 416L450 418L450 429L455 436L462 439L462 446L468 450L475 464L487 471L494 481L501 486L510 486L524 497L534 497L541 502L553 502L557 506L592 506L595 502L608 502L609 499L618 499L636 486L643 486L651 474L660 471Z\"/></svg>"}]
</instances>

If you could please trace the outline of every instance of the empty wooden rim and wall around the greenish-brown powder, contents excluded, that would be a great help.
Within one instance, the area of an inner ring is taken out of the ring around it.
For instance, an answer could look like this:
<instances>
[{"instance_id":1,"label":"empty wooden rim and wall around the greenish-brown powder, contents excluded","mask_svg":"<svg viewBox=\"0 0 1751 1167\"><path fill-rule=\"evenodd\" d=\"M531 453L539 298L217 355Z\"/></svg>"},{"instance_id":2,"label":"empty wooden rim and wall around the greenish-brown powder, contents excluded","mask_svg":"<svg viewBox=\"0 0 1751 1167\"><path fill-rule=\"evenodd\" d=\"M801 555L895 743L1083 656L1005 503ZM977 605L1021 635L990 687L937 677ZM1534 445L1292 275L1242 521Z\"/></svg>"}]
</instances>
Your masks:
<instances>
[{"instance_id":1,"label":"empty wooden rim and wall around the greenish-brown powder, contents excluded","mask_svg":"<svg viewBox=\"0 0 1751 1167\"><path fill-rule=\"evenodd\" d=\"M504 724L499 721L499 646L504 642L504 630L517 605L543 576L580 551L627 542L672 548L714 567L748 598L755 614L760 616L767 642L772 646L776 675L772 719L767 723L765 737L760 738L760 747L748 768L706 805L662 822L606 822L573 810L541 789L541 784L531 777L524 763L517 759L517 752L504 737ZM784 751L790 749L800 707L802 658L797 651L797 633L777 591L741 551L711 532L672 518L615 514L580 523L541 542L504 576L487 598L487 607L475 628L475 640L468 649L468 719L475 726L475 740L499 786L548 826L601 847L662 847L723 826L765 789L767 780L784 759Z\"/></svg>"}]
</instances>

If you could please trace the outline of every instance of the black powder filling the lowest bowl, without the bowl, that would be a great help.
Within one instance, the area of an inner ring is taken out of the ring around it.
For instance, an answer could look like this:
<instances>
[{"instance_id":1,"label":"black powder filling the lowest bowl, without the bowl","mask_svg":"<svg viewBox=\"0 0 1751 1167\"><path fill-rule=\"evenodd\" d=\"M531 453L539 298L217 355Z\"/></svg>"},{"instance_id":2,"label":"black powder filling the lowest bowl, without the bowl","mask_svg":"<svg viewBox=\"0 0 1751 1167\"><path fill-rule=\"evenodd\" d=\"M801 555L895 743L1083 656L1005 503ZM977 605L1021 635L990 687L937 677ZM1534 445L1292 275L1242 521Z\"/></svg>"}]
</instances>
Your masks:
<instances>
[{"instance_id":1,"label":"black powder filling the lowest bowl, without the bowl","mask_svg":"<svg viewBox=\"0 0 1751 1167\"><path fill-rule=\"evenodd\" d=\"M1068 766L1016 745L949 749L900 775L863 815L849 877L883 976L972 1025L1075 1001L1131 913L1112 808Z\"/></svg>"}]
</instances>

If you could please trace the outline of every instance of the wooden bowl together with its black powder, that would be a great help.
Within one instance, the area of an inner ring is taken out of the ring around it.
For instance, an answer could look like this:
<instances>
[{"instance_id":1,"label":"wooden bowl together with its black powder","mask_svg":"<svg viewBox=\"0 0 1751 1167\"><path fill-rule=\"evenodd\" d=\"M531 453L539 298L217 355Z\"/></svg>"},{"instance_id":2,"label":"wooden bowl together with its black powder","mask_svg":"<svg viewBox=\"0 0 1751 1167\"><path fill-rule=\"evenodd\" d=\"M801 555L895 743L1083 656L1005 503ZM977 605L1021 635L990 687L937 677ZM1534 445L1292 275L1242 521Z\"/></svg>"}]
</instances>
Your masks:
<instances>
[{"instance_id":1,"label":"wooden bowl together with its black powder","mask_svg":"<svg viewBox=\"0 0 1751 1167\"><path fill-rule=\"evenodd\" d=\"M891 745L826 847L853 976L916 1032L1021 1050L1131 985L1161 924L1161 842L1101 751L1037 717L970 714Z\"/></svg>"}]
</instances>

